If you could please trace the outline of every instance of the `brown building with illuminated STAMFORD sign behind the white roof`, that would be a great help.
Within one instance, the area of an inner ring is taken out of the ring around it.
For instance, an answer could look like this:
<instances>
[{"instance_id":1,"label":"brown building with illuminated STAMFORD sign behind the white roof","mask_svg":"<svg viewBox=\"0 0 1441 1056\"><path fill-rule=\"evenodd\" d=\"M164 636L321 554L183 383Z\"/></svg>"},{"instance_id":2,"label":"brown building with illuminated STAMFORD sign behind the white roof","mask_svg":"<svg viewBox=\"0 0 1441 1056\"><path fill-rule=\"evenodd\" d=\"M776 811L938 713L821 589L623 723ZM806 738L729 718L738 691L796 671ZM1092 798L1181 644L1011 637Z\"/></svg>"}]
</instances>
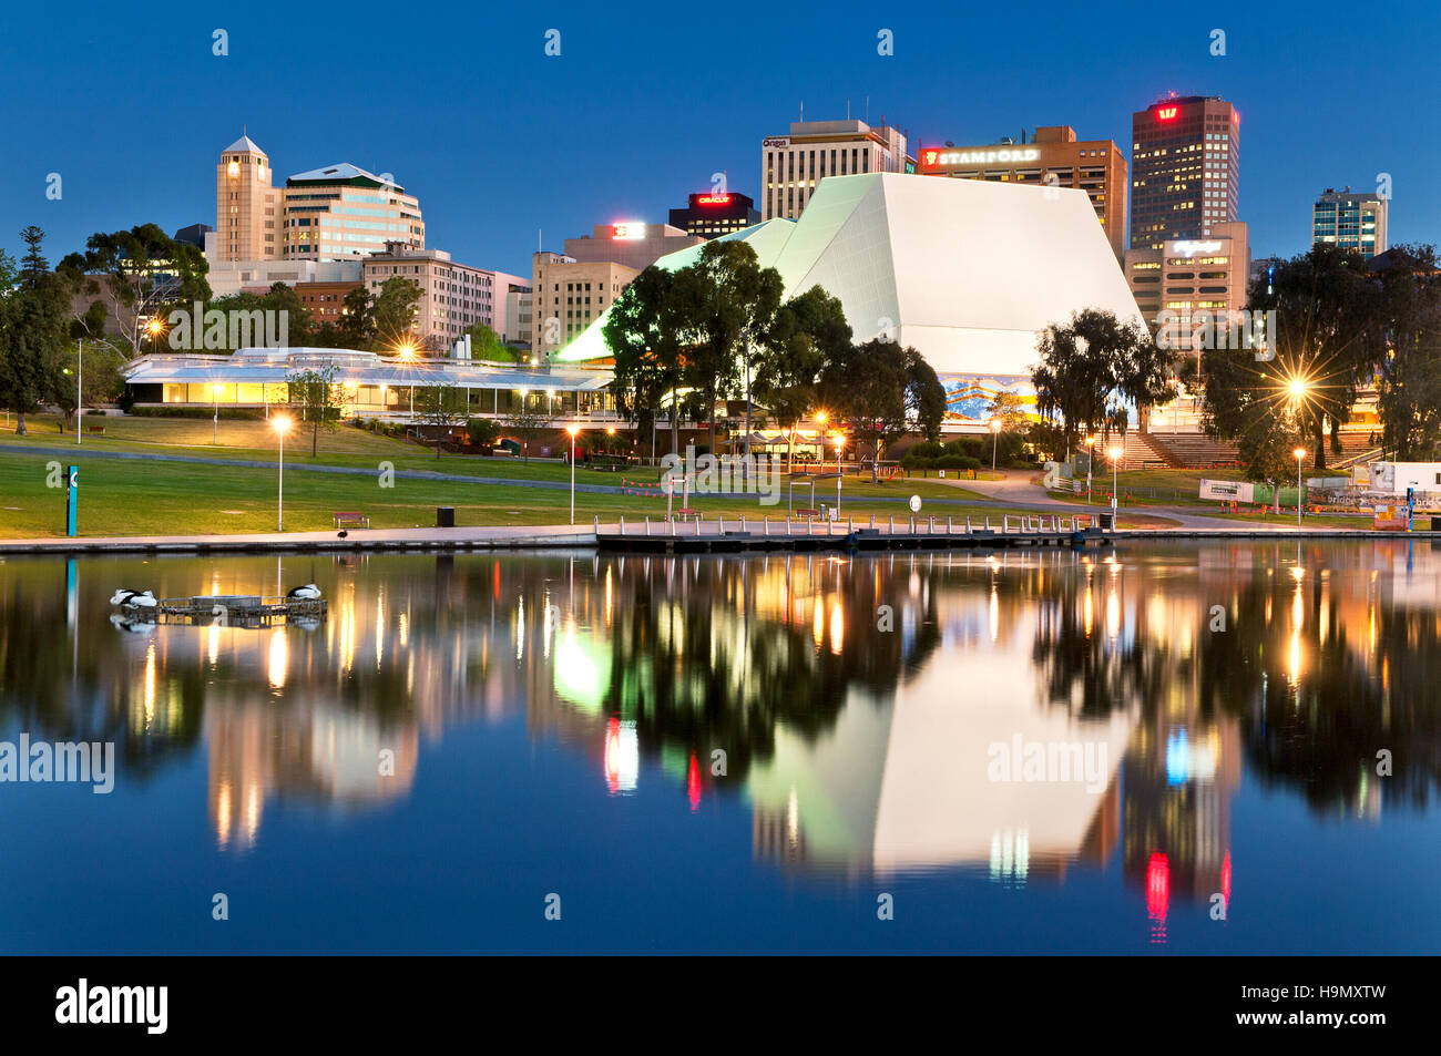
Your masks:
<instances>
[{"instance_id":1,"label":"brown building with illuminated STAMFORD sign behind the white roof","mask_svg":"<svg viewBox=\"0 0 1441 1056\"><path fill-rule=\"evenodd\" d=\"M922 176L1075 187L1091 197L1105 238L1121 259L1130 176L1114 140L1076 140L1071 125L1036 128L1030 141L1003 138L984 147L921 147L915 170Z\"/></svg>"}]
</instances>

